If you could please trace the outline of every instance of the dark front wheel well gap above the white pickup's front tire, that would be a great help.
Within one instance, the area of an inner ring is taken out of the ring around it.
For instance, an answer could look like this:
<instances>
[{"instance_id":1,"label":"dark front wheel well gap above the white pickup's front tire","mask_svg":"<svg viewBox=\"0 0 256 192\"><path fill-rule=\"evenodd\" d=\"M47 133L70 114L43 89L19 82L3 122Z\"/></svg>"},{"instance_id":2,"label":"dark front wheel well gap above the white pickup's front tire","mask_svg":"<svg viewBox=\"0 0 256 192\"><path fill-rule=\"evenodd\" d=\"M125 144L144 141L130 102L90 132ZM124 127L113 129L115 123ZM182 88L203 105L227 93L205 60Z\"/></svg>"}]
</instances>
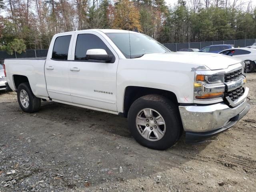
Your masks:
<instances>
[{"instance_id":1,"label":"dark front wheel well gap above the white pickup's front tire","mask_svg":"<svg viewBox=\"0 0 256 192\"><path fill-rule=\"evenodd\" d=\"M128 86L124 94L124 117L127 117L130 106L136 99L148 94L159 94L178 104L177 97L173 92L155 88Z\"/></svg>"}]
</instances>

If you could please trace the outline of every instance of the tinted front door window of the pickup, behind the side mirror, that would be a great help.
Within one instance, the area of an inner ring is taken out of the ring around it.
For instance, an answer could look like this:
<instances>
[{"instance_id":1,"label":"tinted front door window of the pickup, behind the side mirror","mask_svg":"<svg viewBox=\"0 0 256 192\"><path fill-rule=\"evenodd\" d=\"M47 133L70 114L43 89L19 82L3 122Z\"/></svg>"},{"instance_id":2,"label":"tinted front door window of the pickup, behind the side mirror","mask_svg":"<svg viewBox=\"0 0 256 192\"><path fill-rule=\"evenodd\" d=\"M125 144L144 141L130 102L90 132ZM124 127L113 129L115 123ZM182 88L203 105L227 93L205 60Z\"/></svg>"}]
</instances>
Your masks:
<instances>
[{"instance_id":1,"label":"tinted front door window of the pickup, behind the side mirror","mask_svg":"<svg viewBox=\"0 0 256 192\"><path fill-rule=\"evenodd\" d=\"M88 49L104 49L107 54L112 54L106 44L96 35L78 34L76 39L75 60L86 60Z\"/></svg>"}]
</instances>

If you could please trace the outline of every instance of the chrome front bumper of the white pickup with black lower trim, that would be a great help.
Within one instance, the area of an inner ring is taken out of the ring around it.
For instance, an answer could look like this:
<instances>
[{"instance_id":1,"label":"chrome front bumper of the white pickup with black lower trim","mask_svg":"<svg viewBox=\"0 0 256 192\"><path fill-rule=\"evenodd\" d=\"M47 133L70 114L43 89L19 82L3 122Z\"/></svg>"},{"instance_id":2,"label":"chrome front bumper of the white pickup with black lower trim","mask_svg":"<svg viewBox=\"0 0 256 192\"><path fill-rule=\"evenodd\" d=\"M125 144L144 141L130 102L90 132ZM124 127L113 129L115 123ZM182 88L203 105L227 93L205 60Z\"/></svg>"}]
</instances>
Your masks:
<instances>
[{"instance_id":1,"label":"chrome front bumper of the white pickup with black lower trim","mask_svg":"<svg viewBox=\"0 0 256 192\"><path fill-rule=\"evenodd\" d=\"M232 127L249 110L246 99L230 108L224 102L207 106L179 106L186 143L200 143Z\"/></svg>"}]
</instances>

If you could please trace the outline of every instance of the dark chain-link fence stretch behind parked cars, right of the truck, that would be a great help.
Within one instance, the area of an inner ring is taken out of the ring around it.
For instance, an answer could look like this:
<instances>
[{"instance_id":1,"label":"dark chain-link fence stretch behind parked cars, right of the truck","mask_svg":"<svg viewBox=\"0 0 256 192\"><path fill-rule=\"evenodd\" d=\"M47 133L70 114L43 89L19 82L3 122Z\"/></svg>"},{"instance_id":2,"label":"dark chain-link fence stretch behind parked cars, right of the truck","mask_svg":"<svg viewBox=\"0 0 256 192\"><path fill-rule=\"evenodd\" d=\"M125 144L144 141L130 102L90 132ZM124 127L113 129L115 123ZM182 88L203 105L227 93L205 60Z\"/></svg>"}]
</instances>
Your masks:
<instances>
[{"instance_id":1,"label":"dark chain-link fence stretch behind parked cars, right of the truck","mask_svg":"<svg viewBox=\"0 0 256 192\"><path fill-rule=\"evenodd\" d=\"M186 48L202 49L210 45L228 44L234 47L246 47L254 44L256 39L243 39L243 40L227 40L227 41L210 41L210 42L194 42L194 43L166 43L166 46L171 51L178 51Z\"/></svg>"}]
</instances>

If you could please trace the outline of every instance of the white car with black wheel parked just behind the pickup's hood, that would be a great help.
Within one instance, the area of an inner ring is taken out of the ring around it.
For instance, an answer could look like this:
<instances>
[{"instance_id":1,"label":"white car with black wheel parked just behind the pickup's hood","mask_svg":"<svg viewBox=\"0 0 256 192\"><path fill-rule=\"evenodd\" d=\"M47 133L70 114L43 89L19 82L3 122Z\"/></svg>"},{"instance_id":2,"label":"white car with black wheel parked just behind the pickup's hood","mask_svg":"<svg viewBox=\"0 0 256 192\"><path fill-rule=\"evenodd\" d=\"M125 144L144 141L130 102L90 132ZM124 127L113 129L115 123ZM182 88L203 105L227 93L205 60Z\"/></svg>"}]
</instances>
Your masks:
<instances>
[{"instance_id":1,"label":"white car with black wheel parked just behind the pickup's hood","mask_svg":"<svg viewBox=\"0 0 256 192\"><path fill-rule=\"evenodd\" d=\"M221 51L220 54L229 55L244 61L244 72L252 73L256 69L256 49L252 48L233 48Z\"/></svg>"}]
</instances>

